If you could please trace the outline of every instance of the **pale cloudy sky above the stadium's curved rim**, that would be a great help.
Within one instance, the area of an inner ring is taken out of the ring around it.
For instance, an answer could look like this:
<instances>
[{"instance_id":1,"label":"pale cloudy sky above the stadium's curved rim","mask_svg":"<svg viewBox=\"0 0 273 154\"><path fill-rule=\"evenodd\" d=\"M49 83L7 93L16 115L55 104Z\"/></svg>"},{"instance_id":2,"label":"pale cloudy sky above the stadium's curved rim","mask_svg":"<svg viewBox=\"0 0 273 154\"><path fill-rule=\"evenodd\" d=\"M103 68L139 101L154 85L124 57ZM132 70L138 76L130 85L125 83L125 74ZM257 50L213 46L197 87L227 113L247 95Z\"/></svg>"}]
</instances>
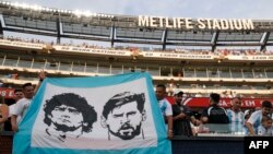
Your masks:
<instances>
[{"instance_id":1,"label":"pale cloudy sky above the stadium's curved rim","mask_svg":"<svg viewBox=\"0 0 273 154\"><path fill-rule=\"evenodd\" d=\"M273 0L7 0L120 15L273 20Z\"/></svg>"}]
</instances>

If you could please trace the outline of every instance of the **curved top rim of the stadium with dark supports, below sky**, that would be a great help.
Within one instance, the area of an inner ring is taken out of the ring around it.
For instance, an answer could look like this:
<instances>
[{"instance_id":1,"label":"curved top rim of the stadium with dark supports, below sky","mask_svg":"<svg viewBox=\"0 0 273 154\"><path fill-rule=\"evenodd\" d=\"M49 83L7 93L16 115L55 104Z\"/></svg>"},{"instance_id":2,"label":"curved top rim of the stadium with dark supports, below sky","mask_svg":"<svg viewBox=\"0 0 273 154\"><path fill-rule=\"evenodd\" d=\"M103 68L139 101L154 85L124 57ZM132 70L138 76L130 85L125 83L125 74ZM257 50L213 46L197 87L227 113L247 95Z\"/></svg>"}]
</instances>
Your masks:
<instances>
[{"instance_id":1,"label":"curved top rim of the stadium with dark supports, below sky","mask_svg":"<svg viewBox=\"0 0 273 154\"><path fill-rule=\"evenodd\" d=\"M153 44L166 46L260 46L261 50L273 45L273 20L253 21L253 28L207 28L215 20L202 23L205 28L179 26L169 28L161 21L176 24L177 19L151 19L151 26L140 25L140 16L91 13L51 8L20 5L0 2L1 33L3 31L31 33L61 38L79 38L115 43ZM202 20L201 20L202 21ZM205 20L203 20L205 21ZM240 20L239 20L240 21ZM171 23L173 22L173 23ZM187 21L186 21L187 22ZM190 21L198 25L200 20ZM216 21L217 22L217 21ZM222 21L218 21L219 24ZM233 22L224 20L226 24ZM146 23L147 24L147 23ZM217 23L216 23L217 24ZM153 26L154 25L154 26ZM155 26L157 25L157 26Z\"/></svg>"}]
</instances>

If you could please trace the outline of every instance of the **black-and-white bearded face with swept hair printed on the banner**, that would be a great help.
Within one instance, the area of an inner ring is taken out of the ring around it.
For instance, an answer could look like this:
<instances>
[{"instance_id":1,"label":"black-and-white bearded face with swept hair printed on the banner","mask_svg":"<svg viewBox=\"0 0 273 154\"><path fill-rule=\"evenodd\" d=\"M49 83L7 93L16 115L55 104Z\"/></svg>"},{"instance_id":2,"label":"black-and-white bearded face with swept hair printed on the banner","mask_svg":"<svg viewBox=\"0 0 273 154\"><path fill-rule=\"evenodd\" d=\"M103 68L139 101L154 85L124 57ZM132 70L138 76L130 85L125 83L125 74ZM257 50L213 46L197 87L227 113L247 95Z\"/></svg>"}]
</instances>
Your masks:
<instances>
[{"instance_id":1,"label":"black-and-white bearded face with swept hair printed on the banner","mask_svg":"<svg viewBox=\"0 0 273 154\"><path fill-rule=\"evenodd\" d=\"M141 134L144 139L142 121L146 119L144 93L123 92L112 96L104 106L102 127L108 129L108 140L117 137L132 140Z\"/></svg>"}]
</instances>

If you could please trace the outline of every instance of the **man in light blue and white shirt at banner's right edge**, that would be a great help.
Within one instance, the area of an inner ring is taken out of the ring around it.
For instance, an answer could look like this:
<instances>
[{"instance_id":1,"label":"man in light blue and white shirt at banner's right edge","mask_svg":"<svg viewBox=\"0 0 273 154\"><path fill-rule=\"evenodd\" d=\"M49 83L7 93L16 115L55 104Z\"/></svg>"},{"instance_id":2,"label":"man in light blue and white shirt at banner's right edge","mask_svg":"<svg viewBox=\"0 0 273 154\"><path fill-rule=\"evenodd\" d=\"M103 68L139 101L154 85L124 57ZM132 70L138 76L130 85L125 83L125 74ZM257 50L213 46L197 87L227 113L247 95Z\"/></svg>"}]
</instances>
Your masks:
<instances>
[{"instance_id":1,"label":"man in light blue and white shirt at banner's right edge","mask_svg":"<svg viewBox=\"0 0 273 154\"><path fill-rule=\"evenodd\" d=\"M155 90L156 98L162 110L162 115L167 123L168 139L173 139L173 109L170 103L165 98L166 86L164 84L158 84Z\"/></svg>"}]
</instances>

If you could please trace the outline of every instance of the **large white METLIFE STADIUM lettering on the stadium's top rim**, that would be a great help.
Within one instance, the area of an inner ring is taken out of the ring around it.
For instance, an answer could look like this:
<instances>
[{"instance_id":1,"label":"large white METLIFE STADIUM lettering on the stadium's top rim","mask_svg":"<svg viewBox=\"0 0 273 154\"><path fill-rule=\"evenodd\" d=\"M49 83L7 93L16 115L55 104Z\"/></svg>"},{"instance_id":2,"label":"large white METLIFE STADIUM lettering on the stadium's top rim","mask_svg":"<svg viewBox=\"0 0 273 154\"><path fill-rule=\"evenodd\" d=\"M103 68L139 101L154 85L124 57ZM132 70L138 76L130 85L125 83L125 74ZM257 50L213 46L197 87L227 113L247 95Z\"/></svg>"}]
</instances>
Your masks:
<instances>
[{"instance_id":1,"label":"large white METLIFE STADIUM lettering on the stadium's top rim","mask_svg":"<svg viewBox=\"0 0 273 154\"><path fill-rule=\"evenodd\" d=\"M139 15L139 26L183 29L254 29L252 20L193 19Z\"/></svg>"}]
</instances>

